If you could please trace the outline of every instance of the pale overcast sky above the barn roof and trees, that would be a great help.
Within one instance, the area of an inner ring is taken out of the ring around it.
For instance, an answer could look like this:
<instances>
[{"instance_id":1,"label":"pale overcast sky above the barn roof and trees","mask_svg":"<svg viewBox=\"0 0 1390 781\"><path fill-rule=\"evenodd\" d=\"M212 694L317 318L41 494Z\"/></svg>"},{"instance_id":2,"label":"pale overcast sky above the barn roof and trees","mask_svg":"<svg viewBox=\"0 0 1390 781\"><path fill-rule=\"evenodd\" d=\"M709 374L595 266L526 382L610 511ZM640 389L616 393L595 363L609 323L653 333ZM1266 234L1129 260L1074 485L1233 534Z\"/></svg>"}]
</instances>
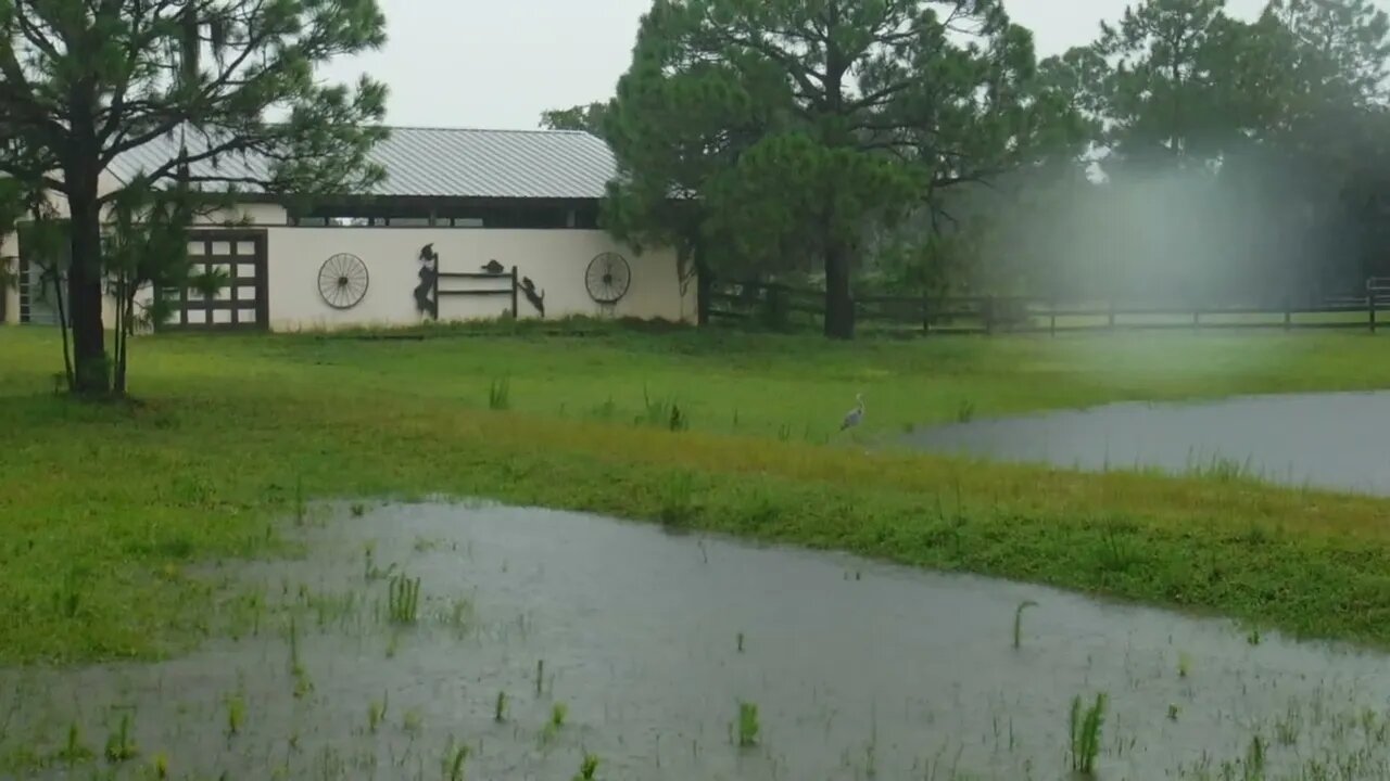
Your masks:
<instances>
[{"instance_id":1,"label":"pale overcast sky above the barn roof and trees","mask_svg":"<svg viewBox=\"0 0 1390 781\"><path fill-rule=\"evenodd\" d=\"M1382 0L1390 3L1390 0ZM1005 0L1041 54L1095 36L1130 0ZM389 42L324 75L391 86L392 125L535 128L541 111L613 94L651 0L381 0ZM1252 17L1264 0L1229 0Z\"/></svg>"}]
</instances>

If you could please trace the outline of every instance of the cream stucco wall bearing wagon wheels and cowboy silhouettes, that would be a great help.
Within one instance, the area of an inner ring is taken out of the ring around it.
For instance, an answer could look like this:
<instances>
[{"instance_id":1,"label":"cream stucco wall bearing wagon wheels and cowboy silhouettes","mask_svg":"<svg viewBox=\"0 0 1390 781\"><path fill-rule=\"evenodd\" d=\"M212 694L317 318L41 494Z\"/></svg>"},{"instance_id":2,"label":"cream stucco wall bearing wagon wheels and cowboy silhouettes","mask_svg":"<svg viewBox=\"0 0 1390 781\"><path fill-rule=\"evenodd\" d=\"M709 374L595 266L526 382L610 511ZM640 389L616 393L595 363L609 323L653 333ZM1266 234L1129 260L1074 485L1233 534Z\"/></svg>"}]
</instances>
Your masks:
<instances>
[{"instance_id":1,"label":"cream stucco wall bearing wagon wheels and cowboy silhouettes","mask_svg":"<svg viewBox=\"0 0 1390 781\"><path fill-rule=\"evenodd\" d=\"M271 228L268 293L275 331L343 327L399 327L425 320L416 310L420 250L434 245L442 272L475 272L489 260L530 277L545 293L545 317L612 314L613 317L692 320L695 290L680 292L673 250L638 256L603 231L457 229L457 228ZM606 313L591 300L584 272L605 252L617 252L631 268L627 295ZM331 256L350 253L370 274L366 297L356 307L335 310L318 293L320 267ZM441 290L505 289L507 281L441 279ZM491 318L510 309L509 296L439 296L439 320ZM518 293L523 318L539 317Z\"/></svg>"}]
</instances>

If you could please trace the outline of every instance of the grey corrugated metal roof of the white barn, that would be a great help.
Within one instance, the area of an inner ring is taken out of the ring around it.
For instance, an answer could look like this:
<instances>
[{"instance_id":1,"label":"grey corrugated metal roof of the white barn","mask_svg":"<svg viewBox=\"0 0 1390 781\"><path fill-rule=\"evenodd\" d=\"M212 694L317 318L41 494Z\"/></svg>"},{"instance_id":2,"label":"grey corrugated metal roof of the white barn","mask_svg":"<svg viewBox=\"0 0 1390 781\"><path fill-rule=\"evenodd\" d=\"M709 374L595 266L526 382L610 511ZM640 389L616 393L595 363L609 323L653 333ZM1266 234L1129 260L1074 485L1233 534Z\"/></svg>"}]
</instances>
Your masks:
<instances>
[{"instance_id":1,"label":"grey corrugated metal roof of the white barn","mask_svg":"<svg viewBox=\"0 0 1390 781\"><path fill-rule=\"evenodd\" d=\"M199 149L193 133L188 146ZM160 138L118 156L110 171L129 181L177 154L178 138ZM607 143L580 131L391 128L371 158L386 168L386 179L371 189L378 196L598 199L617 172ZM215 168L208 160L190 172L263 179L265 161L227 156Z\"/></svg>"}]
</instances>

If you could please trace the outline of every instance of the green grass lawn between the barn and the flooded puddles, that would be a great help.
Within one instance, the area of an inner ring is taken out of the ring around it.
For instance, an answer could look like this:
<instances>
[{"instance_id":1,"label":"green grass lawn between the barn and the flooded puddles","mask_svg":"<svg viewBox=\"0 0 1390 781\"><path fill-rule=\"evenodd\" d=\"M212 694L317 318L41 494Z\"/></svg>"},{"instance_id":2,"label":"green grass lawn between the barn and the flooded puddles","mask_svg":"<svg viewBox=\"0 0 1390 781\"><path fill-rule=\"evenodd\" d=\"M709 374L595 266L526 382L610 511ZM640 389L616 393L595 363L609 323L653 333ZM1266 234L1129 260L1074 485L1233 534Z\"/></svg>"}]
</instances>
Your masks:
<instances>
[{"instance_id":1,"label":"green grass lawn between the barn and the flooded puddles","mask_svg":"<svg viewBox=\"0 0 1390 781\"><path fill-rule=\"evenodd\" d=\"M0 661L177 652L235 618L199 563L281 550L304 499L432 492L1390 642L1390 502L860 445L1109 400L1390 388L1383 339L427 332L143 338L139 403L86 407L53 395L54 332L0 328ZM856 392L866 427L840 435Z\"/></svg>"}]
</instances>

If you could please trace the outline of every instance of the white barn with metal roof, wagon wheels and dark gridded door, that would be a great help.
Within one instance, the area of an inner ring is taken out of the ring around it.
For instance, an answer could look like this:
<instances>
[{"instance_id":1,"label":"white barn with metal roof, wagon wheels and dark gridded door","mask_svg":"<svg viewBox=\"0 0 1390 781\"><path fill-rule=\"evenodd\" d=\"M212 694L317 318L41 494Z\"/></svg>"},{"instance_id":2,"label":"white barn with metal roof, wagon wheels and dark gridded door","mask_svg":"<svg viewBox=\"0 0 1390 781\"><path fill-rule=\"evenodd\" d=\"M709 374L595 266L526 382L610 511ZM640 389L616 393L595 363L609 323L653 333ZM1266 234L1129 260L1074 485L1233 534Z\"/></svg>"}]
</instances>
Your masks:
<instances>
[{"instance_id":1,"label":"white barn with metal roof, wagon wheels and dark gridded door","mask_svg":"<svg viewBox=\"0 0 1390 781\"><path fill-rule=\"evenodd\" d=\"M103 186L171 160L174 143L121 156ZM252 193L228 215L243 225L222 218L199 228L189 253L225 270L231 285L213 299L175 293L174 317L156 328L400 327L507 313L695 318L695 286L681 279L673 250L638 254L598 227L617 167L589 133L392 128L373 158L386 179L366 195L318 197L300 213ZM261 176L259 165L231 157L217 174ZM200 172L211 174L211 163L192 167ZM18 257L18 283L4 290L0 322L57 322L51 285L24 254L22 227L3 256ZM108 325L113 313L108 303Z\"/></svg>"}]
</instances>

